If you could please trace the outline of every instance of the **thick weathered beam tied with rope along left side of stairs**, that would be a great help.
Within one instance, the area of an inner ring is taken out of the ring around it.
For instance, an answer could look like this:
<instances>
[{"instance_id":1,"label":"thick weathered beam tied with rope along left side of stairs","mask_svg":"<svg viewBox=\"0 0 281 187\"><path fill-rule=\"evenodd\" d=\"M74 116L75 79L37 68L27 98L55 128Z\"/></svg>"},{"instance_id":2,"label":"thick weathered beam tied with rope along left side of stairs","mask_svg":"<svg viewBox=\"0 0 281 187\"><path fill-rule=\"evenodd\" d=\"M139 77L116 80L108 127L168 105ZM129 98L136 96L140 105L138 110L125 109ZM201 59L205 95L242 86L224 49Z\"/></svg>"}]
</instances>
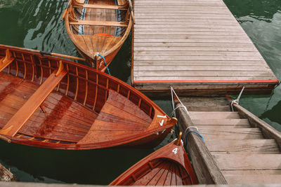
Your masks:
<instances>
[{"instance_id":1,"label":"thick weathered beam tied with rope along left side of stairs","mask_svg":"<svg viewBox=\"0 0 281 187\"><path fill-rule=\"evenodd\" d=\"M181 104L177 104L176 106L180 105ZM178 127L180 131L185 132L187 127L194 126L183 107L178 107L178 109L176 109L176 115L178 117ZM183 139L185 139L185 134L183 135ZM185 148L190 155L199 183L227 184L226 179L201 137L195 133L189 133Z\"/></svg>"}]
</instances>

